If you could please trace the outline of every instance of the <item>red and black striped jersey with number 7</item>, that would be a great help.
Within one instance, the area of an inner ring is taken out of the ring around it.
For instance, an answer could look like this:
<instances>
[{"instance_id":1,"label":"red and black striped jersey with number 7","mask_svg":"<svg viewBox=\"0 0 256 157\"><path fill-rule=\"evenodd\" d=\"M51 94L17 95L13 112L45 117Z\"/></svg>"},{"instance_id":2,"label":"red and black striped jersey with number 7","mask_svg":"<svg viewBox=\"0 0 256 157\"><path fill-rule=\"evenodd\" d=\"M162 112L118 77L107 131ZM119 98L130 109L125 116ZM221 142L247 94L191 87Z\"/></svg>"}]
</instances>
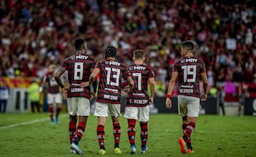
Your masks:
<instances>
[{"instance_id":1,"label":"red and black striped jersey with number 7","mask_svg":"<svg viewBox=\"0 0 256 157\"><path fill-rule=\"evenodd\" d=\"M148 80L155 76L154 71L144 64L133 64L128 67L134 80L134 88L127 95L126 106L145 107L149 105Z\"/></svg>"}]
</instances>

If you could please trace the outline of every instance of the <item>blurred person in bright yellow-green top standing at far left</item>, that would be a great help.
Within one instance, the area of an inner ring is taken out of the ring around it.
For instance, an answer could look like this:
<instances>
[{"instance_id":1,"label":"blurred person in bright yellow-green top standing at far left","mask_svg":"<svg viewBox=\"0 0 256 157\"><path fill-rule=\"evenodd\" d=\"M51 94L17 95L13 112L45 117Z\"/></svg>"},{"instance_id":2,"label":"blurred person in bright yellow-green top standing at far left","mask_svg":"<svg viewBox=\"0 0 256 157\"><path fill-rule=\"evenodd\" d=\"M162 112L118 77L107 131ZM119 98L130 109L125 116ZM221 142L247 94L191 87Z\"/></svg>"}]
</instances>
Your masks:
<instances>
[{"instance_id":1,"label":"blurred person in bright yellow-green top standing at far left","mask_svg":"<svg viewBox=\"0 0 256 157\"><path fill-rule=\"evenodd\" d=\"M37 83L36 79L34 79L30 86L28 86L28 94L29 94L29 100L31 101L31 110L34 113L36 107L37 111L40 112L40 92L39 92L39 84Z\"/></svg>"}]
</instances>

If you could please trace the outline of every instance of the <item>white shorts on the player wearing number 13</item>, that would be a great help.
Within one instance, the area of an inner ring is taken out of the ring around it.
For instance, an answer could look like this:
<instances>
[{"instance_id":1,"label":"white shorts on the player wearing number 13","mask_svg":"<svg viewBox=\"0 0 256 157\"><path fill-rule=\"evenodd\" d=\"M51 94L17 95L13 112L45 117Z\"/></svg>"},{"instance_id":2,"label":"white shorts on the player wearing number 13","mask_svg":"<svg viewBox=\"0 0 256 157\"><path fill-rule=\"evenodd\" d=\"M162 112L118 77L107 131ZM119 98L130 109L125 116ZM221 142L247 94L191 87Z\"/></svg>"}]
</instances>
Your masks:
<instances>
[{"instance_id":1,"label":"white shorts on the player wearing number 13","mask_svg":"<svg viewBox=\"0 0 256 157\"><path fill-rule=\"evenodd\" d=\"M108 112L111 116L121 117L121 105L112 103L99 103L95 105L95 112L93 115L97 117L108 117Z\"/></svg>"}]
</instances>

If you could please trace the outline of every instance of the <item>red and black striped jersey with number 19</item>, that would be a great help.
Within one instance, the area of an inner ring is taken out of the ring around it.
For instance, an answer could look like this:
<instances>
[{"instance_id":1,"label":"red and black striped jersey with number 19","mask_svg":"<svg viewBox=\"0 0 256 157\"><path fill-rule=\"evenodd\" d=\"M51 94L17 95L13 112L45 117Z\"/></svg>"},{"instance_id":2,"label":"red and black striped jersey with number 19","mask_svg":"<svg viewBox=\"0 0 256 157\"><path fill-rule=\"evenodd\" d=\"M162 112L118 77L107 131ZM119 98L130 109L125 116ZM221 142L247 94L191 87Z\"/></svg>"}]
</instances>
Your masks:
<instances>
[{"instance_id":1,"label":"red and black striped jersey with number 19","mask_svg":"<svg viewBox=\"0 0 256 157\"><path fill-rule=\"evenodd\" d=\"M178 72L178 95L200 98L199 81L206 72L205 63L198 57L182 57L174 63L173 71Z\"/></svg>"}]
</instances>

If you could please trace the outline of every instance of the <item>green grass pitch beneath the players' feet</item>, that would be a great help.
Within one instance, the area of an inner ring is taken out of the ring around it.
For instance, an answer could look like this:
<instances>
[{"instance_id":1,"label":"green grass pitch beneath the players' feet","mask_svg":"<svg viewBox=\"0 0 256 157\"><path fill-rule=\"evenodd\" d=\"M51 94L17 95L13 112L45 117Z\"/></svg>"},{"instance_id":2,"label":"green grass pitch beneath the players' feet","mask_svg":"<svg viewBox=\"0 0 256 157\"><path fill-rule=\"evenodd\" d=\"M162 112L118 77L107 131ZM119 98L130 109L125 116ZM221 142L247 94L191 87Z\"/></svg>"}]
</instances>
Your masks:
<instances>
[{"instance_id":1,"label":"green grass pitch beneath the players' feet","mask_svg":"<svg viewBox=\"0 0 256 157\"><path fill-rule=\"evenodd\" d=\"M129 155L127 120L121 117L120 149ZM176 114L151 115L149 121L149 151L139 153L137 123L136 156L256 156L256 117L202 115L192 134L195 153L181 154L177 139L181 133L181 117ZM50 124L48 113L0 114L0 156L79 156L70 154L68 114L62 113L60 124ZM97 155L97 117L90 116L80 141L83 156ZM110 117L105 128L105 156L115 156Z\"/></svg>"}]
</instances>

